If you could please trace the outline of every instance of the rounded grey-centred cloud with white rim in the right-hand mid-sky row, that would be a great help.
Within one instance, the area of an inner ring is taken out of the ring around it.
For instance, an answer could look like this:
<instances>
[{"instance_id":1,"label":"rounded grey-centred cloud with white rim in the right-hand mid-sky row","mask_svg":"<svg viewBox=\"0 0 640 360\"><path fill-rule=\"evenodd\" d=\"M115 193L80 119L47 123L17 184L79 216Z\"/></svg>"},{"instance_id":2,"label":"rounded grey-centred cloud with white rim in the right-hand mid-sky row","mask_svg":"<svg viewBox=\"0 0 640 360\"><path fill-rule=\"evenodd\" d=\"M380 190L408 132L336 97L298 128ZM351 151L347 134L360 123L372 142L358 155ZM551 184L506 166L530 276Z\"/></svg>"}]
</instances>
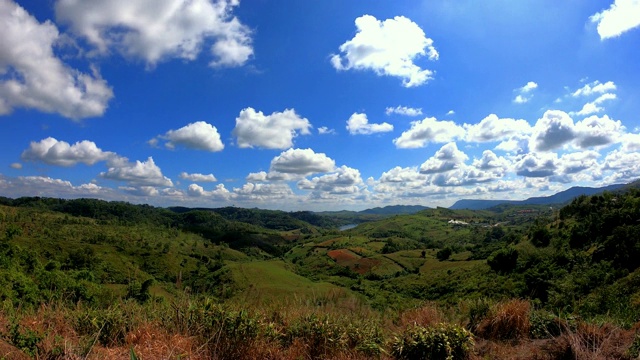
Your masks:
<instances>
[{"instance_id":1,"label":"rounded grey-centred cloud with white rim in the right-hand mid-sky row","mask_svg":"<svg viewBox=\"0 0 640 360\"><path fill-rule=\"evenodd\" d=\"M573 119L560 110L547 110L533 127L531 149L549 151L569 143L576 137Z\"/></svg>"}]
</instances>

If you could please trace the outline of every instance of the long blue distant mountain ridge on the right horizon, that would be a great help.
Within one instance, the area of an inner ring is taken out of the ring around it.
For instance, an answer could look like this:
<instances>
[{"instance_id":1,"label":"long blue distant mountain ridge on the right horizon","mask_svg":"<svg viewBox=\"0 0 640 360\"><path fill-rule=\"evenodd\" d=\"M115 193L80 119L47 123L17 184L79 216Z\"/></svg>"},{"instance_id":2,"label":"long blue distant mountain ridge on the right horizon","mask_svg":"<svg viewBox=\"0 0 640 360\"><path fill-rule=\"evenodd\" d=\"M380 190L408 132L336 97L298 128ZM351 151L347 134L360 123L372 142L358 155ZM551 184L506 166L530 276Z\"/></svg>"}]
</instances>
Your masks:
<instances>
[{"instance_id":1,"label":"long blue distant mountain ridge on the right horizon","mask_svg":"<svg viewBox=\"0 0 640 360\"><path fill-rule=\"evenodd\" d=\"M449 209L460 210L484 210L501 204L511 205L553 205L564 204L580 195L594 195L604 191L616 191L628 186L627 184L615 184L599 188L574 186L555 195L531 197L526 200L477 200L462 199L456 201Z\"/></svg>"}]
</instances>

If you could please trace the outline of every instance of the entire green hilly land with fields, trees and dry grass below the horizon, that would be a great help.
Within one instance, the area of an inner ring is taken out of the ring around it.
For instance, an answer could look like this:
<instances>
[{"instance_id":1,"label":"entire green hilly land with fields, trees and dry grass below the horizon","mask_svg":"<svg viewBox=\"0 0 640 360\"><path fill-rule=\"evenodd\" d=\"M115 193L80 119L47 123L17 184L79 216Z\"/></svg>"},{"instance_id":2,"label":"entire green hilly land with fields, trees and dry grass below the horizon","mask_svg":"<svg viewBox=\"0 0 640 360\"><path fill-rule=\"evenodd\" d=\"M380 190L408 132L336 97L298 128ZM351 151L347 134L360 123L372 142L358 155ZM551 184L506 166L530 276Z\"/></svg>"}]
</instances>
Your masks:
<instances>
[{"instance_id":1,"label":"entire green hilly land with fields, trees and dry grass below the horizon","mask_svg":"<svg viewBox=\"0 0 640 360\"><path fill-rule=\"evenodd\" d=\"M374 218L3 198L0 358L633 359L639 219L634 188Z\"/></svg>"}]
</instances>

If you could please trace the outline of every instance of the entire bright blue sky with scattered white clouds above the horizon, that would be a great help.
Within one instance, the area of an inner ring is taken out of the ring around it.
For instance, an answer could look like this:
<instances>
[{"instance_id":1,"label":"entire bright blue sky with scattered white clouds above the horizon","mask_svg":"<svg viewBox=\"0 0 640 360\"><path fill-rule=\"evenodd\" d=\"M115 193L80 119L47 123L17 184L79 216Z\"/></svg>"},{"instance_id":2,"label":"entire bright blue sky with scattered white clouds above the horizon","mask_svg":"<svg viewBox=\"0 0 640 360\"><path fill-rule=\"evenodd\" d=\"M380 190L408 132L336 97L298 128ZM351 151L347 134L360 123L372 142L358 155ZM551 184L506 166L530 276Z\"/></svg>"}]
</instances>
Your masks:
<instances>
[{"instance_id":1,"label":"entire bright blue sky with scattered white clouds above the horizon","mask_svg":"<svg viewBox=\"0 0 640 360\"><path fill-rule=\"evenodd\" d=\"M640 178L640 0L0 0L0 196L362 210Z\"/></svg>"}]
</instances>

